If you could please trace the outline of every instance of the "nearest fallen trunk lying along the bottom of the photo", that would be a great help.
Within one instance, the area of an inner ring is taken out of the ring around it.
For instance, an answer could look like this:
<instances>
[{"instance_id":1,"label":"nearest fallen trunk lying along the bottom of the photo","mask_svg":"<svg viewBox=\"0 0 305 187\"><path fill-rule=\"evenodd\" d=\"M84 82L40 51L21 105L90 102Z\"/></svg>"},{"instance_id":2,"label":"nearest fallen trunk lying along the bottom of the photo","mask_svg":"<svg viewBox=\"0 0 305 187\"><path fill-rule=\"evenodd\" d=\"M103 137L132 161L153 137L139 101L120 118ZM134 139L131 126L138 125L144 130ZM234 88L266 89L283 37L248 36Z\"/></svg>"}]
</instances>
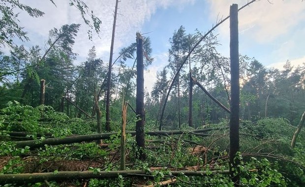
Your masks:
<instances>
[{"instance_id":1,"label":"nearest fallen trunk lying along the bottom of the photo","mask_svg":"<svg viewBox=\"0 0 305 187\"><path fill-rule=\"evenodd\" d=\"M76 179L105 179L105 178L117 178L119 175L122 177L134 177L134 176L151 176L153 171L143 170L122 170L122 171L60 171L58 173L25 173L25 174L4 174L0 175L0 184L23 184L33 183L41 181L68 181ZM227 174L229 170L215 170L209 171L213 174ZM203 176L206 175L207 171L171 171L170 176ZM167 177L167 176L165 176Z\"/></svg>"}]
</instances>

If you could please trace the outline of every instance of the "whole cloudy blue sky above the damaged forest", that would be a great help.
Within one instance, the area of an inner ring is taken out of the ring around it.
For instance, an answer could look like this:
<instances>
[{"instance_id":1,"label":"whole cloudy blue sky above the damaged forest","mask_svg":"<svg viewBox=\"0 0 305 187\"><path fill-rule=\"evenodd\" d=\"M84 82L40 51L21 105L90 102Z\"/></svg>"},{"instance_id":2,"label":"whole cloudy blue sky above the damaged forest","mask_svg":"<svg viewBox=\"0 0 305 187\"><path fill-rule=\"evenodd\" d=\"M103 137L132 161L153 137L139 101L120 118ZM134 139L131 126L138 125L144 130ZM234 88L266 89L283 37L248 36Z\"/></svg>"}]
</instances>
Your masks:
<instances>
[{"instance_id":1,"label":"whole cloudy blue sky above the damaged forest","mask_svg":"<svg viewBox=\"0 0 305 187\"><path fill-rule=\"evenodd\" d=\"M21 3L42 10L45 15L32 18L20 11L19 21L28 32L30 48L39 45L45 48L49 31L64 24L82 24L75 39L73 50L78 54L77 62L84 62L94 45L97 57L108 64L115 0L84 0L90 10L101 21L101 31L88 39L88 27L80 12L69 6L69 0L19 0ZM186 33L195 29L209 31L222 17L229 15L232 3L239 7L248 0L121 0L119 2L114 59L122 47L135 42L137 31L146 33L152 41L154 62L145 72L146 91L150 92L156 80L156 72L168 63L169 38L184 26ZM229 57L229 20L214 32L221 44L217 50ZM239 50L242 55L254 57L267 67L282 68L289 60L292 65L305 62L305 1L259 0L239 12ZM130 66L132 64L129 64Z\"/></svg>"}]
</instances>

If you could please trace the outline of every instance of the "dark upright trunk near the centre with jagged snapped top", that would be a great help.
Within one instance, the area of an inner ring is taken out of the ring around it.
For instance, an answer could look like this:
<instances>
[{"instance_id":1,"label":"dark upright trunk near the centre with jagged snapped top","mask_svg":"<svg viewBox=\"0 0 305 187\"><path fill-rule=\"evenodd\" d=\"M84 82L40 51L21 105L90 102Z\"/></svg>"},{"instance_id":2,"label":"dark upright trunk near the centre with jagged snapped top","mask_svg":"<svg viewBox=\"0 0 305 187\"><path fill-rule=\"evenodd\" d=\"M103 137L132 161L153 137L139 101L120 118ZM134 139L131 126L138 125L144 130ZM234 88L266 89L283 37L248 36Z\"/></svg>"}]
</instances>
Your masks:
<instances>
[{"instance_id":1,"label":"dark upright trunk near the centre with jagged snapped top","mask_svg":"<svg viewBox=\"0 0 305 187\"><path fill-rule=\"evenodd\" d=\"M137 94L136 94L136 142L139 149L139 158L145 160L145 137L144 137L144 62L143 62L143 38L139 32L137 36Z\"/></svg>"}]
</instances>

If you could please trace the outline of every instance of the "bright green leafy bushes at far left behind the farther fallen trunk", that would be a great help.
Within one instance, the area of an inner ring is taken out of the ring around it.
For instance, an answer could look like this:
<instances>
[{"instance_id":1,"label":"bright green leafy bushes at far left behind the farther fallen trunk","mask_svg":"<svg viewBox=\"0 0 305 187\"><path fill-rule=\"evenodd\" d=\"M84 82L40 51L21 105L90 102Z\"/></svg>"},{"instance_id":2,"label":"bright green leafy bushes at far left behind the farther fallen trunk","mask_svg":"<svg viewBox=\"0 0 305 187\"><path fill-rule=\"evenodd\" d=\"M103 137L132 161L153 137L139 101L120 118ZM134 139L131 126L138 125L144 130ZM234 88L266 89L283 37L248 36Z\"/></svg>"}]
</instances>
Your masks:
<instances>
[{"instance_id":1,"label":"bright green leafy bushes at far left behind the farther fallen trunk","mask_svg":"<svg viewBox=\"0 0 305 187\"><path fill-rule=\"evenodd\" d=\"M71 134L90 134L96 129L94 121L85 122L79 118L69 117L46 105L31 107L8 103L8 107L0 110L0 132L21 131L29 133L29 137L36 138L37 134L51 133L53 137Z\"/></svg>"}]
</instances>

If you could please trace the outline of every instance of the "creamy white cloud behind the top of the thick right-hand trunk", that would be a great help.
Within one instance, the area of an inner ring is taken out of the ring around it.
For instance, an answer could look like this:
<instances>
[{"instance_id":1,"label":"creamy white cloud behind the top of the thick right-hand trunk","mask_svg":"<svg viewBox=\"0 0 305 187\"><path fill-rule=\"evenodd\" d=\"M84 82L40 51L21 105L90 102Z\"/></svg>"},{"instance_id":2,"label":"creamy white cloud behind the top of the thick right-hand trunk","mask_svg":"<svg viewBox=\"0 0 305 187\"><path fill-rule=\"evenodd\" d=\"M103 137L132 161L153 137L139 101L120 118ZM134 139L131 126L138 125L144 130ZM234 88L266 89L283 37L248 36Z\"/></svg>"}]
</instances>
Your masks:
<instances>
[{"instance_id":1,"label":"creamy white cloud behind the top of the thick right-hand trunk","mask_svg":"<svg viewBox=\"0 0 305 187\"><path fill-rule=\"evenodd\" d=\"M211 5L210 19L215 19L217 14L223 17L229 15L232 3L239 7L248 0L209 0ZM258 42L270 42L291 29L305 19L305 4L300 0L260 0L245 7L239 12L239 28ZM229 34L229 22L219 27L221 34Z\"/></svg>"}]
</instances>

